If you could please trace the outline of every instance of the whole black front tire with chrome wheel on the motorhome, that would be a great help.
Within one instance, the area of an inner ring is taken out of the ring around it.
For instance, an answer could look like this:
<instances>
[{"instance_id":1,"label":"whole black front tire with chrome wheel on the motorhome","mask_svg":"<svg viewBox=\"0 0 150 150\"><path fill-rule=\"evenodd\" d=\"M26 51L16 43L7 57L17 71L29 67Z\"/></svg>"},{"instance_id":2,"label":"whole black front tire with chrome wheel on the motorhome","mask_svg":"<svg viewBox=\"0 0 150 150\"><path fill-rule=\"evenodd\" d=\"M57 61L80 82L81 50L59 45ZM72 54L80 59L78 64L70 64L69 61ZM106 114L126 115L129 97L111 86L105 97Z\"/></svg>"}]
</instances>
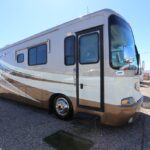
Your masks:
<instances>
[{"instance_id":1,"label":"whole black front tire with chrome wheel on the motorhome","mask_svg":"<svg viewBox=\"0 0 150 150\"><path fill-rule=\"evenodd\" d=\"M55 115L62 120L67 120L73 116L73 107L69 98L59 95L55 97L53 103Z\"/></svg>"}]
</instances>

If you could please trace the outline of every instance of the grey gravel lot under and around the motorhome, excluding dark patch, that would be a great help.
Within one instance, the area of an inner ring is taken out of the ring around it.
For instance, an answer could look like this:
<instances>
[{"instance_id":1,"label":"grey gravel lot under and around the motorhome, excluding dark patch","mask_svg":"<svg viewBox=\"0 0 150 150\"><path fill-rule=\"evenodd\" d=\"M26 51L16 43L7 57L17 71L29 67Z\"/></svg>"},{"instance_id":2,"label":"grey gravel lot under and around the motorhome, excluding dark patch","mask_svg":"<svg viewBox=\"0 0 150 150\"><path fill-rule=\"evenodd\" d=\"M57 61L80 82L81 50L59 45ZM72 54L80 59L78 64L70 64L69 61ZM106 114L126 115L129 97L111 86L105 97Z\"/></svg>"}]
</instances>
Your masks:
<instances>
[{"instance_id":1,"label":"grey gravel lot under and around the motorhome, excluding dark patch","mask_svg":"<svg viewBox=\"0 0 150 150\"><path fill-rule=\"evenodd\" d=\"M150 87L142 85L145 101L150 102ZM17 102L0 99L0 148L2 150L49 150L43 141L58 130L78 135L94 142L92 149L149 150L150 109L142 108L138 120L123 127L97 124L92 116L77 116L65 122L47 111Z\"/></svg>"}]
</instances>

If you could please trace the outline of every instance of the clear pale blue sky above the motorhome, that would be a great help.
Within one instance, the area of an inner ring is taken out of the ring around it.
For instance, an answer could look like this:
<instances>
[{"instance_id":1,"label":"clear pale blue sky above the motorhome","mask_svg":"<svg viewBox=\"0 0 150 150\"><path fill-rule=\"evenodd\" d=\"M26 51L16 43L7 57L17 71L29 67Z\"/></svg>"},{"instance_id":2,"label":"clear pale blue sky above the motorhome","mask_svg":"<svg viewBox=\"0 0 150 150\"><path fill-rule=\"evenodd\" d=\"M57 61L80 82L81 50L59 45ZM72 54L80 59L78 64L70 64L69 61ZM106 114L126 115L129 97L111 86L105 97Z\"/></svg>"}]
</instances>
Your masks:
<instances>
[{"instance_id":1,"label":"clear pale blue sky above the motorhome","mask_svg":"<svg viewBox=\"0 0 150 150\"><path fill-rule=\"evenodd\" d=\"M130 23L150 70L149 0L0 0L0 47L89 12L110 8Z\"/></svg>"}]
</instances>

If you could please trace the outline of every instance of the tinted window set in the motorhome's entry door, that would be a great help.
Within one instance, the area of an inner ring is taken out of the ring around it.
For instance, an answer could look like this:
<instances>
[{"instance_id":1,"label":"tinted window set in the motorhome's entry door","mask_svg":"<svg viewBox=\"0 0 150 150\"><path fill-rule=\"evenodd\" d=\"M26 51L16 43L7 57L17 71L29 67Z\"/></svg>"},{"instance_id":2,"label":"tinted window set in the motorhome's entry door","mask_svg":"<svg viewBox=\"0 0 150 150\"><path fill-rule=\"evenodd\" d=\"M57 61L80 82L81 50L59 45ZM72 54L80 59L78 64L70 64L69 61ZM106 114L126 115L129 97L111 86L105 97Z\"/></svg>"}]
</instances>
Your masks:
<instances>
[{"instance_id":1,"label":"tinted window set in the motorhome's entry door","mask_svg":"<svg viewBox=\"0 0 150 150\"><path fill-rule=\"evenodd\" d=\"M97 32L79 38L80 64L91 64L99 61L99 34Z\"/></svg>"}]
</instances>

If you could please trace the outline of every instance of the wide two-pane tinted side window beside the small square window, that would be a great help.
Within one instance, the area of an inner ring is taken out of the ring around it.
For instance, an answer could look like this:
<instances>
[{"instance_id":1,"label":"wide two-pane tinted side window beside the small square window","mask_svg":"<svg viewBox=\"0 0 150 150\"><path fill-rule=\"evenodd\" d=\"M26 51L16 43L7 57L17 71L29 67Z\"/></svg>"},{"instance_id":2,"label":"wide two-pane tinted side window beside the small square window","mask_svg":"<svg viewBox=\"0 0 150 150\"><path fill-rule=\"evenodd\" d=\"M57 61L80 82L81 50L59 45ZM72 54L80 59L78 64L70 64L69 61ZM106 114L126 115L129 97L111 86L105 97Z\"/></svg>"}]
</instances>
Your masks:
<instances>
[{"instance_id":1,"label":"wide two-pane tinted side window beside the small square window","mask_svg":"<svg viewBox=\"0 0 150 150\"><path fill-rule=\"evenodd\" d=\"M41 65L47 63L47 45L42 44L28 50L28 64Z\"/></svg>"}]
</instances>

